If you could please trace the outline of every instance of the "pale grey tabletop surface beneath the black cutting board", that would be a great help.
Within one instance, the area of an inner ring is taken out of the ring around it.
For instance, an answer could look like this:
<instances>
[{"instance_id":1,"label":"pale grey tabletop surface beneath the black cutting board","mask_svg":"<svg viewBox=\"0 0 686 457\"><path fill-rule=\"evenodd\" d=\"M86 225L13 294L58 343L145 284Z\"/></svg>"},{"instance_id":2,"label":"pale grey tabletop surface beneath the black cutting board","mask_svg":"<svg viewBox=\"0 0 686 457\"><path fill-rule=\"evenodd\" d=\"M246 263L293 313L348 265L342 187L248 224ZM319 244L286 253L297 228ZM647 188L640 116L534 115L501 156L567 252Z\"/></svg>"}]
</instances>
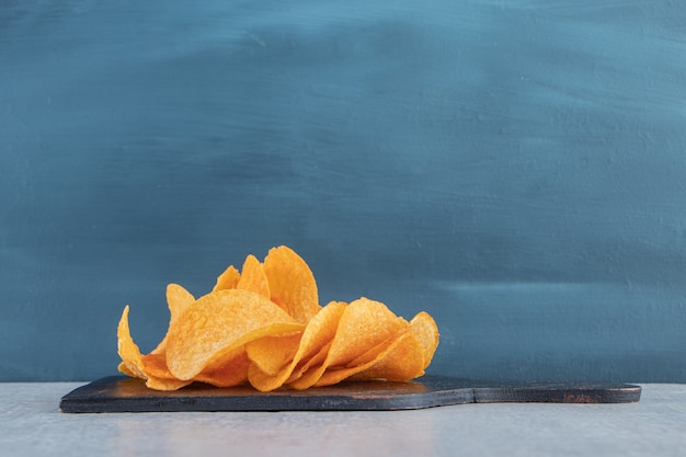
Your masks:
<instances>
[{"instance_id":1,"label":"pale grey tabletop surface beneath the black cutting board","mask_svg":"<svg viewBox=\"0 0 686 457\"><path fill-rule=\"evenodd\" d=\"M64 414L75 382L0 384L0 456L683 456L686 385L629 404Z\"/></svg>"}]
</instances>

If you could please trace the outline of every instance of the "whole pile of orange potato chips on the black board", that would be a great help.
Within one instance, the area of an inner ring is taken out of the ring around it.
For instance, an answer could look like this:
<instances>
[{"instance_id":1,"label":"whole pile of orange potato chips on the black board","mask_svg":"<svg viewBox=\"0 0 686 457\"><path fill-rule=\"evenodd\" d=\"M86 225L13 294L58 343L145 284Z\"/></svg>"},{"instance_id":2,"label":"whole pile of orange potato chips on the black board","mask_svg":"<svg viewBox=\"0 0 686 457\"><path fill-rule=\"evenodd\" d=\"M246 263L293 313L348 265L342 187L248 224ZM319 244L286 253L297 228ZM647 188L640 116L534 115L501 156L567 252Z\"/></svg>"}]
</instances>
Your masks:
<instances>
[{"instance_id":1,"label":"whole pile of orange potato chips on the black board","mask_svg":"<svg viewBox=\"0 0 686 457\"><path fill-rule=\"evenodd\" d=\"M128 306L117 329L119 370L156 390L194 381L261 391L405 381L424 374L438 345L426 312L408 322L364 297L320 306L312 272L287 247L271 249L262 263L248 255L240 273L229 266L198 299L170 284L167 301L169 329L149 354L130 336Z\"/></svg>"}]
</instances>

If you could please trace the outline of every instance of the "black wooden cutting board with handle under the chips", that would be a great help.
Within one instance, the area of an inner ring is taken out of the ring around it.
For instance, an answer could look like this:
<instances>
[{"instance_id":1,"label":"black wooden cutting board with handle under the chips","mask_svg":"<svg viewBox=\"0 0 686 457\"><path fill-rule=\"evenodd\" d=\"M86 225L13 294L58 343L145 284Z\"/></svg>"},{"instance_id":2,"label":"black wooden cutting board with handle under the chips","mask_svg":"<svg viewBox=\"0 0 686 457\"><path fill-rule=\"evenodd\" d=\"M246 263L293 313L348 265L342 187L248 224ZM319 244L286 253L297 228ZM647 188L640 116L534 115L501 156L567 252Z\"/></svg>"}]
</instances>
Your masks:
<instances>
[{"instance_id":1,"label":"black wooden cutting board with handle under the chips","mask_svg":"<svg viewBox=\"0 0 686 457\"><path fill-rule=\"evenodd\" d=\"M175 391L150 390L140 379L110 376L62 397L67 413L170 411L390 411L464 403L630 403L641 388L627 384L504 384L444 376L409 382L341 382L307 390L259 392L201 382Z\"/></svg>"}]
</instances>

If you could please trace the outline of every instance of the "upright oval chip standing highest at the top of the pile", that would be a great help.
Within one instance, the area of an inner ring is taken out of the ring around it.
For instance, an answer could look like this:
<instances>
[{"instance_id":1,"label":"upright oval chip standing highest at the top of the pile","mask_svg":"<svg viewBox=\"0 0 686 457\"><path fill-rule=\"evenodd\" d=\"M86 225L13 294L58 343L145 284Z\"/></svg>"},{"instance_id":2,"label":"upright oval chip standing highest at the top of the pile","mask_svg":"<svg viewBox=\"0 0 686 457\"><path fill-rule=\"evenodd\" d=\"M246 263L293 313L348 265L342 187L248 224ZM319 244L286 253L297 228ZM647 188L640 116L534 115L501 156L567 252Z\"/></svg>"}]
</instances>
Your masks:
<instances>
[{"instance_id":1,"label":"upright oval chip standing highest at the top of the pile","mask_svg":"<svg viewBox=\"0 0 686 457\"><path fill-rule=\"evenodd\" d=\"M300 323L317 315L319 296L315 276L307 263L285 245L272 248L264 259L272 301Z\"/></svg>"}]
</instances>

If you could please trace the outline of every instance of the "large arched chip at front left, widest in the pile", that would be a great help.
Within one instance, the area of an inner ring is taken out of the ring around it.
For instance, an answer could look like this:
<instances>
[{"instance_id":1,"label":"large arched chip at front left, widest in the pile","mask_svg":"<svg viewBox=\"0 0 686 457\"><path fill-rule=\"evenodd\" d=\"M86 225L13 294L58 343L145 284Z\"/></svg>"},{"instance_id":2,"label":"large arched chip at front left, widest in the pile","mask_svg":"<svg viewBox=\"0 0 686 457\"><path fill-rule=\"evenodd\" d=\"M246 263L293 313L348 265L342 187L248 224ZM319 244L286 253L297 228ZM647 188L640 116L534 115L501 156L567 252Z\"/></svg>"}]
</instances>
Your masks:
<instances>
[{"instance_id":1,"label":"large arched chip at front left, widest in the pile","mask_svg":"<svg viewBox=\"0 0 686 457\"><path fill-rule=\"evenodd\" d=\"M198 298L170 325L167 364L178 379L192 379L213 362L250 341L304 328L259 294L217 290Z\"/></svg>"}]
</instances>

